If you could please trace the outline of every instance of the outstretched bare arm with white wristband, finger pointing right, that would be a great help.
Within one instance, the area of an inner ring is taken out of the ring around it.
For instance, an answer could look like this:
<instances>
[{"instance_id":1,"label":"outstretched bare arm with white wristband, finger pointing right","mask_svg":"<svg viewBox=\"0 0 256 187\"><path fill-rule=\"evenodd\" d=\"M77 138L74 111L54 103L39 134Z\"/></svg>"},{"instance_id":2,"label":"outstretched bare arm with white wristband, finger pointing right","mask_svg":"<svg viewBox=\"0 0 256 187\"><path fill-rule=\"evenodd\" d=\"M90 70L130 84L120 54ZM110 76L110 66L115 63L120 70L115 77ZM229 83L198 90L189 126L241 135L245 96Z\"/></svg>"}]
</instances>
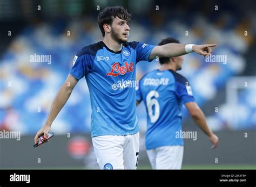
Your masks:
<instances>
[{"instance_id":1,"label":"outstretched bare arm with white wristband, finger pointing right","mask_svg":"<svg viewBox=\"0 0 256 187\"><path fill-rule=\"evenodd\" d=\"M152 49L149 59L152 60L157 56L160 57L175 57L185 55L189 52L196 52L197 54L205 57L212 54L211 47L215 47L216 44L204 44L204 45L193 45L188 46L184 44L165 44L162 46L156 46ZM191 49L189 49L191 47Z\"/></svg>"}]
</instances>

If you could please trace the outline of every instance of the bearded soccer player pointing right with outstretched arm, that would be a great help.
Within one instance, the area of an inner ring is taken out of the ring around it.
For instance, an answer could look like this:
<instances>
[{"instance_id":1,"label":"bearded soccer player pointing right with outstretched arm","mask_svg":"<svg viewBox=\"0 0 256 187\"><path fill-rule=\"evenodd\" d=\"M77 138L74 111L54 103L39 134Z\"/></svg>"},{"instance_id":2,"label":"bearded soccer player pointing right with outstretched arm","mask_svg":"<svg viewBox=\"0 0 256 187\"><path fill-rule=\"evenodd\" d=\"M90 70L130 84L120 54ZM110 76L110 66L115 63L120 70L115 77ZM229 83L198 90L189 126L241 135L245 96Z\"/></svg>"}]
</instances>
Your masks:
<instances>
[{"instance_id":1,"label":"bearded soccer player pointing right with outstretched arm","mask_svg":"<svg viewBox=\"0 0 256 187\"><path fill-rule=\"evenodd\" d=\"M131 15L121 6L105 8L98 15L103 41L83 47L73 60L65 83L58 91L43 127L35 136L47 136L53 120L77 82L85 77L91 99L91 137L100 169L136 169L139 128L136 90L117 89L117 82L135 80L136 63L156 56L180 56L190 52L208 56L215 45L167 44L153 46L127 42ZM75 112L75 111L74 111Z\"/></svg>"}]
</instances>

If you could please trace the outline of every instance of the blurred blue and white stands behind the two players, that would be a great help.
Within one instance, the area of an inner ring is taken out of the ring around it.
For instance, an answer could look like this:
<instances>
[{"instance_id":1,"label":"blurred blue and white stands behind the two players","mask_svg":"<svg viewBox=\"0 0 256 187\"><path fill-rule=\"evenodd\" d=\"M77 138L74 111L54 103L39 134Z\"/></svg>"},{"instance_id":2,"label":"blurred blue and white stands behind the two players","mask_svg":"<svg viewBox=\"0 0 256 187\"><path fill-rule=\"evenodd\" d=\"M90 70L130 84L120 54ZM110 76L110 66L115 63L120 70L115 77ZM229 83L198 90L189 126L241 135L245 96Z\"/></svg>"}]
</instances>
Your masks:
<instances>
[{"instance_id":1,"label":"blurred blue and white stands behind the two players","mask_svg":"<svg viewBox=\"0 0 256 187\"><path fill-rule=\"evenodd\" d=\"M255 128L256 78L248 77L248 86L244 85L247 82L245 77L245 81L237 87L230 87L232 78L243 74L248 63L254 63L246 61L244 57L254 40L253 34L247 34L244 28L248 28L247 32L255 33L255 27L251 24L253 21L238 20L228 13L208 18L193 14L190 21L180 18L178 12L173 15L177 17L165 18L167 21L164 23L157 16L153 21L133 17L129 24L129 41L157 45L161 39L174 37L182 44L217 44L213 55L226 56L226 62L207 62L204 57L191 53L185 56L183 69L179 73L190 82L199 106L207 106L219 97L225 98L222 103L209 105L212 113L207 119L214 131ZM96 21L96 17L86 17L34 23L26 26L12 40L0 59L0 129L21 131L22 134L37 132L72 67L73 57L83 46L102 40ZM31 56L35 55L50 55L51 62L31 61ZM137 80L156 68L159 68L157 60L138 63ZM228 101L227 97L231 97L228 93L218 95L220 90L227 87L234 89L231 93L236 93L232 95L236 102ZM139 106L137 113L140 129L145 131L144 106ZM52 131L57 134L89 133L90 119L89 90L85 79L82 79L54 121Z\"/></svg>"}]
</instances>

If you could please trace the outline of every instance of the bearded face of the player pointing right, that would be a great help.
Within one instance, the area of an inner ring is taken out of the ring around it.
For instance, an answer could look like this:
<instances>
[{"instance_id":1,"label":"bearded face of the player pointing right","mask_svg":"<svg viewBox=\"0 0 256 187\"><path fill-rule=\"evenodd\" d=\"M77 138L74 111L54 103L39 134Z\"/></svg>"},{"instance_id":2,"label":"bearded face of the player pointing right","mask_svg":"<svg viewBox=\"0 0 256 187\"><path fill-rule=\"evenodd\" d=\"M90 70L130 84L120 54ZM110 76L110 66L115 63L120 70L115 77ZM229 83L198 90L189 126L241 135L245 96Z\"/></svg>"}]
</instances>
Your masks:
<instances>
[{"instance_id":1,"label":"bearded face of the player pointing right","mask_svg":"<svg viewBox=\"0 0 256 187\"><path fill-rule=\"evenodd\" d=\"M127 21L118 17L114 18L111 26L111 37L119 44L127 41L130 27L127 25Z\"/></svg>"}]
</instances>

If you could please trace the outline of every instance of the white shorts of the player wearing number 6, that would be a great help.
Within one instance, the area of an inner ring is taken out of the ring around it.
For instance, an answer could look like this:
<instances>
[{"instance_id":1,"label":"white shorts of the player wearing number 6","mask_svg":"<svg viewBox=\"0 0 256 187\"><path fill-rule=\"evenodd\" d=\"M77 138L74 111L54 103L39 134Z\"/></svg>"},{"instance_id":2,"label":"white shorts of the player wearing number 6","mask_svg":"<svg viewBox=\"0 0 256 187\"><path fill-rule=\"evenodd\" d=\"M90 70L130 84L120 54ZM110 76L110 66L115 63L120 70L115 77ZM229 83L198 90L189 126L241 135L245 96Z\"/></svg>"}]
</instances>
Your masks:
<instances>
[{"instance_id":1,"label":"white shorts of the player wearing number 6","mask_svg":"<svg viewBox=\"0 0 256 187\"><path fill-rule=\"evenodd\" d=\"M163 146L147 150L153 169L181 169L183 146Z\"/></svg>"}]
</instances>

